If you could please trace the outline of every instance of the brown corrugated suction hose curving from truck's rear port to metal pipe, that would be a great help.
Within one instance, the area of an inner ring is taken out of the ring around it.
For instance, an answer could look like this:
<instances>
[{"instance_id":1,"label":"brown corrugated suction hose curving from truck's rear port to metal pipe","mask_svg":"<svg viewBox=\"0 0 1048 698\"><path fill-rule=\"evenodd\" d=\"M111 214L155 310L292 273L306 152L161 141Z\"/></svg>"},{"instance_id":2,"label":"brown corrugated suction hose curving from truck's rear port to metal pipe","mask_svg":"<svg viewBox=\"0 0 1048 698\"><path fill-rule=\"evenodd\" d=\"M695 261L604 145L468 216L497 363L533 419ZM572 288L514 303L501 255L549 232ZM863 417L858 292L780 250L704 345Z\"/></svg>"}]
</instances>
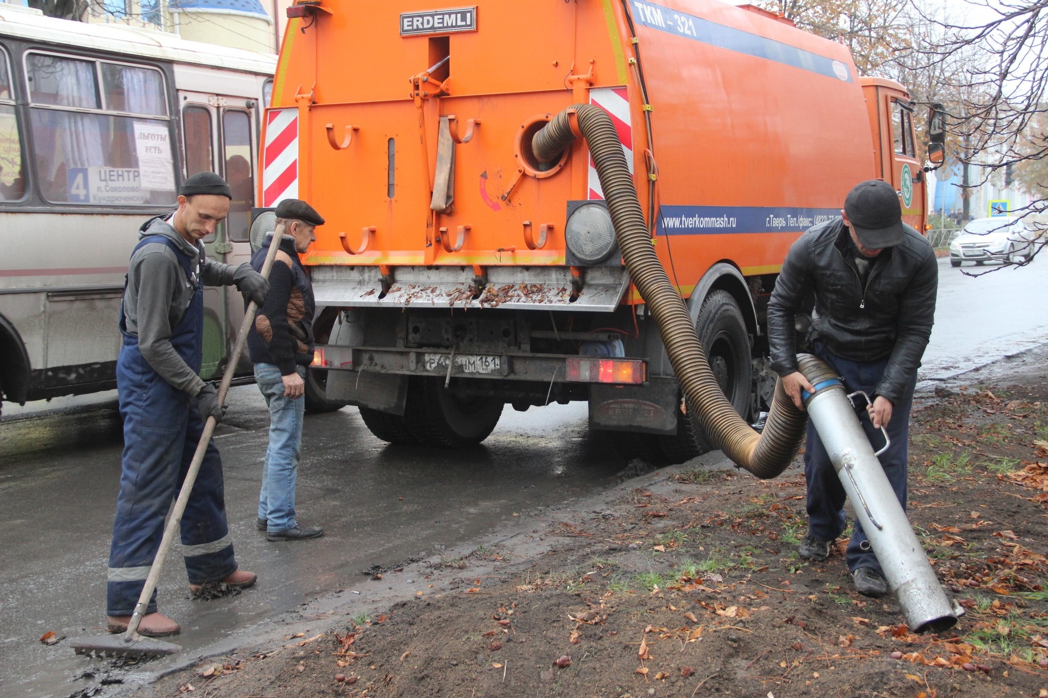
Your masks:
<instances>
[{"instance_id":1,"label":"brown corrugated suction hose curving from truck's rear port to metal pipe","mask_svg":"<svg viewBox=\"0 0 1048 698\"><path fill-rule=\"evenodd\" d=\"M577 133L572 130L573 122L577 123ZM684 300L670 284L655 254L611 117L593 105L569 107L536 133L531 150L541 162L553 162L577 135L586 139L596 165L630 278L655 317L677 381L703 432L727 457L754 475L776 477L796 455L807 415L793 405L780 381L763 434L739 416L709 369ZM820 382L823 373L833 375L815 357L802 358L801 371L812 384Z\"/></svg>"}]
</instances>

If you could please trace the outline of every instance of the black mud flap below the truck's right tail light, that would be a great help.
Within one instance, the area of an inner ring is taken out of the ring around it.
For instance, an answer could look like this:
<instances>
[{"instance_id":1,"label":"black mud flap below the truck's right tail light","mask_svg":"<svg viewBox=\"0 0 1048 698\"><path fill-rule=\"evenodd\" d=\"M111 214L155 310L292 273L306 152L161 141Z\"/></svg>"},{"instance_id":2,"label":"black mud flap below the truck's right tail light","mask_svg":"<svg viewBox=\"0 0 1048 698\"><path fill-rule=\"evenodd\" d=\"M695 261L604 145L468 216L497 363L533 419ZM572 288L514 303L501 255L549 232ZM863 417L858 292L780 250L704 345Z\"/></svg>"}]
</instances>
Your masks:
<instances>
[{"instance_id":1,"label":"black mud flap below the truck's right tail light","mask_svg":"<svg viewBox=\"0 0 1048 698\"><path fill-rule=\"evenodd\" d=\"M591 385L590 428L677 433L675 379L651 379L648 385Z\"/></svg>"}]
</instances>

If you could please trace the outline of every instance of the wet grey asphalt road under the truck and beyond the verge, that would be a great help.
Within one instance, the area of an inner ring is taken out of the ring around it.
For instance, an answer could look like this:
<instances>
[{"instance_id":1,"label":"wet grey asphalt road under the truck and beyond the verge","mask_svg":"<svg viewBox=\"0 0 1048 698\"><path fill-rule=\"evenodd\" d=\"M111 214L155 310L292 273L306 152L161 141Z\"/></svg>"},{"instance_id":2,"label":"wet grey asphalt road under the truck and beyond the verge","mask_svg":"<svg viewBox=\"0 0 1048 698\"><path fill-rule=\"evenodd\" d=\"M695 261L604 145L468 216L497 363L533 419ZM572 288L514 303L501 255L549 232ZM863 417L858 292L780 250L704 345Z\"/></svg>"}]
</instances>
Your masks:
<instances>
[{"instance_id":1,"label":"wet grey asphalt road under the truck and beyond the verge","mask_svg":"<svg viewBox=\"0 0 1048 698\"><path fill-rule=\"evenodd\" d=\"M965 271L990 268L965 265ZM940 260L939 303L920 378L925 388L1048 343L1048 258L970 278ZM465 451L388 446L355 408L310 415L298 485L299 518L324 538L269 543L255 530L268 414L255 386L231 392L216 432L231 535L257 588L190 599L176 549L159 584L161 609L192 652L410 560L483 536L517 514L608 489L625 466L591 436L585 404L515 412ZM62 636L105 633L105 577L119 477L119 422L111 395L22 408L0 419L0 696L70 696L91 665Z\"/></svg>"}]
</instances>

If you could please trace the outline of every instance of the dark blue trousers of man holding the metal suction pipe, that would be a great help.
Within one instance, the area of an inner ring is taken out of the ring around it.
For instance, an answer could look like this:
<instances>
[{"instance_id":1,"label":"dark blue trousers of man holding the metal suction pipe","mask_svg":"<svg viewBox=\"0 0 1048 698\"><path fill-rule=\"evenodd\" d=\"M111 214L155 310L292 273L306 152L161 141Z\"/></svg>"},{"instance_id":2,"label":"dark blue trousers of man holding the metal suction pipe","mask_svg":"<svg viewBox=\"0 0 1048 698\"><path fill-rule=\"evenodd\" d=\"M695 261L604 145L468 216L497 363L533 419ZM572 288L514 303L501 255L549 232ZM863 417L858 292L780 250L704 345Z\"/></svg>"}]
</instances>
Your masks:
<instances>
[{"instance_id":1,"label":"dark blue trousers of man holding the metal suction pipe","mask_svg":"<svg viewBox=\"0 0 1048 698\"><path fill-rule=\"evenodd\" d=\"M826 351L821 344L815 344L814 354L826 361L844 379L848 392L863 390L873 399L873 390L885 374L888 360L882 361L850 361ZM895 496L907 510L907 460L910 446L910 408L913 406L914 386L917 377L911 379L907 390L899 402L892 405L892 419L885 428L892 446L880 454L880 467L888 476L888 481L895 491ZM856 401L861 403L861 399ZM859 424L867 438L876 451L885 445L885 436L879 429L874 429L873 423L866 413L866 405L859 405L855 410ZM804 451L804 476L808 481L808 533L818 540L833 540L845 530L845 488L833 469L826 447L818 438L815 427L808 422L808 443ZM866 549L863 549L864 546ZM859 567L872 567L883 573L877 556L867 544L866 533L858 519L852 524L851 539L845 553L848 569L855 571Z\"/></svg>"}]
</instances>

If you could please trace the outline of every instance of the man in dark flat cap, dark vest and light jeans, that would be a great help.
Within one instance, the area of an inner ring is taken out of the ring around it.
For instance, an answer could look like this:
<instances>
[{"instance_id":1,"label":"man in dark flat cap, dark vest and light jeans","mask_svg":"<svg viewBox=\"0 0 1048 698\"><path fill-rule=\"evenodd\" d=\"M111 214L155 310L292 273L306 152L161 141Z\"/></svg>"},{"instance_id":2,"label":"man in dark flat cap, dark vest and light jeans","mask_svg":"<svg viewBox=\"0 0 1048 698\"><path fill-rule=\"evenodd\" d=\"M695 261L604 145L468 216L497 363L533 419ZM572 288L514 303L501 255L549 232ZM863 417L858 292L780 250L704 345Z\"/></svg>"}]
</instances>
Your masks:
<instances>
[{"instance_id":1,"label":"man in dark flat cap, dark vest and light jeans","mask_svg":"<svg viewBox=\"0 0 1048 698\"><path fill-rule=\"evenodd\" d=\"M255 380L269 407L269 448L262 467L259 493L259 531L266 540L319 538L324 530L299 523L294 512L294 482L302 448L302 420L306 409L306 368L313 360L313 287L299 254L316 240L314 229L324 219L299 199L277 206L277 226L283 238L268 233L252 257L261 269L269 246L280 245L269 271L269 295L247 334Z\"/></svg>"}]
</instances>

